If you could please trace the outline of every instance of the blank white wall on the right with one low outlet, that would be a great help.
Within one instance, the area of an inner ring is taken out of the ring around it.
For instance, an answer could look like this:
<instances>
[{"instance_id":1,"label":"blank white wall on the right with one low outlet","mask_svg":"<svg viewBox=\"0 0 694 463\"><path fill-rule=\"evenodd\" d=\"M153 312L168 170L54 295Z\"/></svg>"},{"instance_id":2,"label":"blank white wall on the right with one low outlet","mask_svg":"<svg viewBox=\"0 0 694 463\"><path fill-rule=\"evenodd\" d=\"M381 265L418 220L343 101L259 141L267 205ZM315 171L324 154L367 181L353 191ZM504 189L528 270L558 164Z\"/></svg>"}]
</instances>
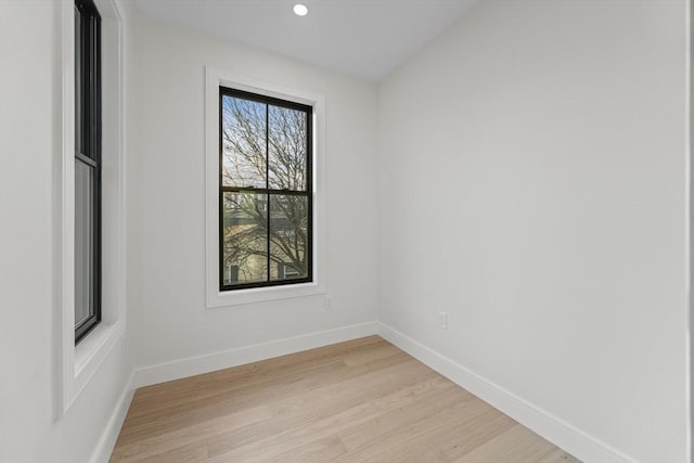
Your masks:
<instances>
[{"instance_id":1,"label":"blank white wall on the right with one low outlet","mask_svg":"<svg viewBox=\"0 0 694 463\"><path fill-rule=\"evenodd\" d=\"M380 320L640 462L686 459L685 16L486 1L380 87Z\"/></svg>"}]
</instances>

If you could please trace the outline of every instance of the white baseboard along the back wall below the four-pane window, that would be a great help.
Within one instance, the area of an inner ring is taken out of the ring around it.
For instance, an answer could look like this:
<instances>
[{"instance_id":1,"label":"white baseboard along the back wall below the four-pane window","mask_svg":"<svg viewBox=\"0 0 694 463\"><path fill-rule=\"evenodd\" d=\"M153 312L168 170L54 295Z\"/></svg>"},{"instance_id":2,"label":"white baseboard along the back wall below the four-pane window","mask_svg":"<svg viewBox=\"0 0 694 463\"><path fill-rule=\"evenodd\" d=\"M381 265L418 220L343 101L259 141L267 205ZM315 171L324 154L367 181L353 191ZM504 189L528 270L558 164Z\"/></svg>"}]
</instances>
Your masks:
<instances>
[{"instance_id":1,"label":"white baseboard along the back wall below the four-pane window","mask_svg":"<svg viewBox=\"0 0 694 463\"><path fill-rule=\"evenodd\" d=\"M301 350L327 346L329 344L371 336L377 334L377 332L378 325L374 321L143 366L134 371L134 387L180 380L273 357L286 356Z\"/></svg>"}]
</instances>

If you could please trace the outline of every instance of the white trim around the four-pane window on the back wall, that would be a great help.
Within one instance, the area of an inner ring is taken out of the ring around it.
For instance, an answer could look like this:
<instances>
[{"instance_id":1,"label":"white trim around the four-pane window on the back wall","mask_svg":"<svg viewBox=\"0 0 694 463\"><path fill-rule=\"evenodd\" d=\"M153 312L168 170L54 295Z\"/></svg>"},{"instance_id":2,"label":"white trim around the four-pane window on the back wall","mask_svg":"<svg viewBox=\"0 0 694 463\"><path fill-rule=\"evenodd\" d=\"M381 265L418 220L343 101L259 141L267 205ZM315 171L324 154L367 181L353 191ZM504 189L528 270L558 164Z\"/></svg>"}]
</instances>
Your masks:
<instances>
[{"instance_id":1,"label":"white trim around the four-pane window on the back wall","mask_svg":"<svg viewBox=\"0 0 694 463\"><path fill-rule=\"evenodd\" d=\"M313 282L219 291L219 87L313 106ZM325 294L325 97L205 67L205 255L207 308Z\"/></svg>"}]
</instances>

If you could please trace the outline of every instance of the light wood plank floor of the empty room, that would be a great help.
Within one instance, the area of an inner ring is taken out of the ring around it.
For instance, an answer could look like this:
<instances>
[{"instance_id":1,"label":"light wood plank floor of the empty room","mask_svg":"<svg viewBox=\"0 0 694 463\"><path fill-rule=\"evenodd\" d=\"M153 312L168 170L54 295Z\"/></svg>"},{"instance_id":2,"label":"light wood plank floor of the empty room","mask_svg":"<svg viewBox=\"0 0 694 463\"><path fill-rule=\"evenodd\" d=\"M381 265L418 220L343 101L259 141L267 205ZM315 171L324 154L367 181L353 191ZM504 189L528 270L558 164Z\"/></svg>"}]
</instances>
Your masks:
<instances>
[{"instance_id":1,"label":"light wood plank floor of the empty room","mask_svg":"<svg viewBox=\"0 0 694 463\"><path fill-rule=\"evenodd\" d=\"M371 336L138 389L111 462L577 460Z\"/></svg>"}]
</instances>

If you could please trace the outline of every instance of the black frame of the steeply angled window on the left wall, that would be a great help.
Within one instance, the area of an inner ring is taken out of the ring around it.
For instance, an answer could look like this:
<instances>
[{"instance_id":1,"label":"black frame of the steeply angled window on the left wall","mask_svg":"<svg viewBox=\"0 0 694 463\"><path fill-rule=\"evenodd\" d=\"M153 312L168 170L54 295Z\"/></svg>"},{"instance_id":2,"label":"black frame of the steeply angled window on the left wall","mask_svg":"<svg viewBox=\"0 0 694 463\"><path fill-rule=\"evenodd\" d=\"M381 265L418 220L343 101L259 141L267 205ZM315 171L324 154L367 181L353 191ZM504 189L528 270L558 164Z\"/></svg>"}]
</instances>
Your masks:
<instances>
[{"instance_id":1,"label":"black frame of the steeply angled window on the left wall","mask_svg":"<svg viewBox=\"0 0 694 463\"><path fill-rule=\"evenodd\" d=\"M92 275L89 317L75 324L75 345L100 322L101 313L101 15L92 0L75 0L75 162L92 169ZM80 117L81 116L81 117ZM77 279L79 275L75 274Z\"/></svg>"}]
</instances>

